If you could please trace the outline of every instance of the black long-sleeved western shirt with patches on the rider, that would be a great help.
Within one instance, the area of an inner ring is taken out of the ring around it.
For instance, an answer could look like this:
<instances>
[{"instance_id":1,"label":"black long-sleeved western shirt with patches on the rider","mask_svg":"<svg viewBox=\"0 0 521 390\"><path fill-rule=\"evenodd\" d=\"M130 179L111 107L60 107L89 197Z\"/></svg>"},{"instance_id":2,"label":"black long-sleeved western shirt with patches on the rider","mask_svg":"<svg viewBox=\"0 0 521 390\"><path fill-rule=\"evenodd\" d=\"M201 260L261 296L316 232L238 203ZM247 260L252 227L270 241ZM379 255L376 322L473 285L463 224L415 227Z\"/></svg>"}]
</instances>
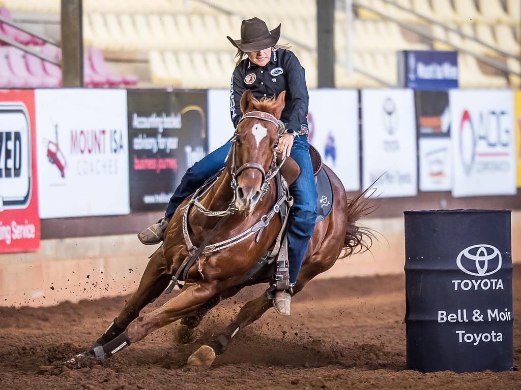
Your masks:
<instances>
[{"instance_id":1,"label":"black long-sleeved western shirt with patches on the rider","mask_svg":"<svg viewBox=\"0 0 521 390\"><path fill-rule=\"evenodd\" d=\"M302 125L307 126L309 96L304 68L292 51L271 50L271 58L264 67L257 66L248 58L235 67L230 87L231 120L235 128L242 118L241 96L246 89L250 89L257 99L278 96L285 90L285 105L280 120L296 132Z\"/></svg>"}]
</instances>

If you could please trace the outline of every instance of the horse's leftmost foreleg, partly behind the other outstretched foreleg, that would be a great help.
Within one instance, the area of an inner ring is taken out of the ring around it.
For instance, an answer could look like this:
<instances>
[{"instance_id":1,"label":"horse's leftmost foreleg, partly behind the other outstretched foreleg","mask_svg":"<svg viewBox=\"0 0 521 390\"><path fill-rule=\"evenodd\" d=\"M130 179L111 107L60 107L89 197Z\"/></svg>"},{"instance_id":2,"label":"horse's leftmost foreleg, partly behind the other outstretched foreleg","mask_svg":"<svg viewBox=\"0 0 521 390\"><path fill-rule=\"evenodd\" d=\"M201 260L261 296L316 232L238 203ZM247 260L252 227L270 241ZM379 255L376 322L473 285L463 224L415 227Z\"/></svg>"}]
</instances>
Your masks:
<instances>
[{"instance_id":1,"label":"horse's leftmost foreleg, partly behind the other outstretched foreleg","mask_svg":"<svg viewBox=\"0 0 521 390\"><path fill-rule=\"evenodd\" d=\"M125 331L128 324L138 318L141 309L161 295L169 282L170 276L166 274L163 252L157 251L148 262L138 289L132 294L105 333L96 340L96 344L106 344Z\"/></svg>"}]
</instances>

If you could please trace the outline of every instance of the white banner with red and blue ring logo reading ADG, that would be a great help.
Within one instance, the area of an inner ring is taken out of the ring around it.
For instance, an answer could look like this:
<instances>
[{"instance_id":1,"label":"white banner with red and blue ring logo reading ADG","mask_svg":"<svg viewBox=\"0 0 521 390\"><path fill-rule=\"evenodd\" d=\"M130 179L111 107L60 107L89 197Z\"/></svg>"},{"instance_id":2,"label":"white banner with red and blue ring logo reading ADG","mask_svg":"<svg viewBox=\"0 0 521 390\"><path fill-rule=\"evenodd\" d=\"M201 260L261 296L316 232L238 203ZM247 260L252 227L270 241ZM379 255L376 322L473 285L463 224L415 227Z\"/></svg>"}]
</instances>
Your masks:
<instances>
[{"instance_id":1,"label":"white banner with red and blue ring logo reading ADG","mask_svg":"<svg viewBox=\"0 0 521 390\"><path fill-rule=\"evenodd\" d=\"M512 91L454 89L449 100L452 196L515 194Z\"/></svg>"}]
</instances>

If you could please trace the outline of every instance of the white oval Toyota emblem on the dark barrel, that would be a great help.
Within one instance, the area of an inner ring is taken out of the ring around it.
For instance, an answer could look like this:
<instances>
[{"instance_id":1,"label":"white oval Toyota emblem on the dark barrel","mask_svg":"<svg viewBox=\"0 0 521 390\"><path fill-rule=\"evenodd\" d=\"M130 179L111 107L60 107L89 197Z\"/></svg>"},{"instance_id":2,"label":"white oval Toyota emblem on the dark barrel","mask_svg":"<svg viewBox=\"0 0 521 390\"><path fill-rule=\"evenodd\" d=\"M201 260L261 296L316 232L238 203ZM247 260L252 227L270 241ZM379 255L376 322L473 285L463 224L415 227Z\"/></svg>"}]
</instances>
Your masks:
<instances>
[{"instance_id":1,"label":"white oval Toyota emblem on the dark barrel","mask_svg":"<svg viewBox=\"0 0 521 390\"><path fill-rule=\"evenodd\" d=\"M457 255L456 264L468 275L492 275L501 268L501 253L492 245L472 245Z\"/></svg>"}]
</instances>

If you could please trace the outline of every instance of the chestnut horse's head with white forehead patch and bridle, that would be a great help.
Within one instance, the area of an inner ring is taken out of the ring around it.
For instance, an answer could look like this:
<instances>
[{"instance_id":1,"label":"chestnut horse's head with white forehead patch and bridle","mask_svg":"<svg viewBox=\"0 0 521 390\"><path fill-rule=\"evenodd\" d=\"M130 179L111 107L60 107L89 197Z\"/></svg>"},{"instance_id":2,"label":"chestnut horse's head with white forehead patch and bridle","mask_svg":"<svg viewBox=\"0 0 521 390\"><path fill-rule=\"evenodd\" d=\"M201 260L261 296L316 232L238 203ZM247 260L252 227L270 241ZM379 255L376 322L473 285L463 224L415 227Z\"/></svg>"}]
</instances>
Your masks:
<instances>
[{"instance_id":1,"label":"chestnut horse's head with white forehead patch and bridle","mask_svg":"<svg viewBox=\"0 0 521 390\"><path fill-rule=\"evenodd\" d=\"M284 108L284 95L278 98L255 99L247 89L241 97L244 113L232 147L232 173L235 185L235 206L251 212L262 196L262 187L269 172L275 168L279 134L277 120Z\"/></svg>"}]
</instances>

